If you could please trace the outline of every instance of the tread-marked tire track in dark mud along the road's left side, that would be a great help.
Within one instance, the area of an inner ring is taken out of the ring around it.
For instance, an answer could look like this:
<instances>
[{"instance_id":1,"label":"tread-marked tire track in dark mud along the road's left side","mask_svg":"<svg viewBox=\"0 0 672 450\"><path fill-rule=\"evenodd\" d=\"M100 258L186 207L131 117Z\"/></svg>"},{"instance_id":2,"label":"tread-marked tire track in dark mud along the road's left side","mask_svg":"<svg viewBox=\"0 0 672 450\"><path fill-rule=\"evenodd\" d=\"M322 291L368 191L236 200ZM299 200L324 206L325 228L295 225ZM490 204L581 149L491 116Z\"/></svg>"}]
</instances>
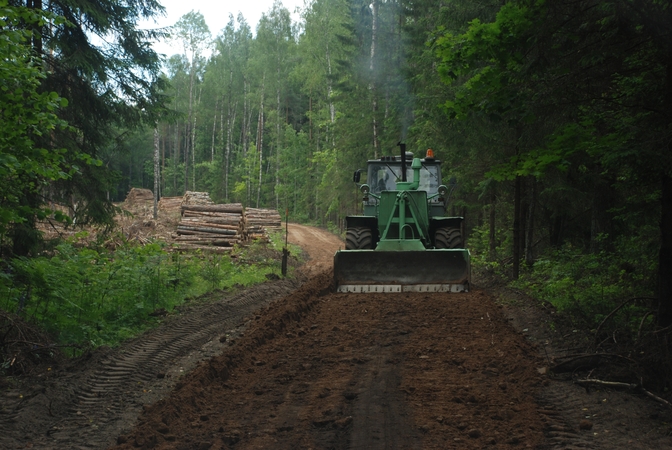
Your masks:
<instances>
[{"instance_id":1,"label":"tread-marked tire track in dark mud along the road's left side","mask_svg":"<svg viewBox=\"0 0 672 450\"><path fill-rule=\"evenodd\" d=\"M218 348L228 345L219 342L220 336L228 333L237 337L244 318L284 297L297 285L287 280L266 283L170 318L121 349L84 363L88 370L69 376L65 393L62 384L60 388L54 384L27 397L2 398L0 447L112 445L134 423L142 405L167 393L188 370L188 364L213 356ZM42 423L48 425L24 427L24 422L34 423L25 419L35 414L44 416Z\"/></svg>"}]
</instances>

